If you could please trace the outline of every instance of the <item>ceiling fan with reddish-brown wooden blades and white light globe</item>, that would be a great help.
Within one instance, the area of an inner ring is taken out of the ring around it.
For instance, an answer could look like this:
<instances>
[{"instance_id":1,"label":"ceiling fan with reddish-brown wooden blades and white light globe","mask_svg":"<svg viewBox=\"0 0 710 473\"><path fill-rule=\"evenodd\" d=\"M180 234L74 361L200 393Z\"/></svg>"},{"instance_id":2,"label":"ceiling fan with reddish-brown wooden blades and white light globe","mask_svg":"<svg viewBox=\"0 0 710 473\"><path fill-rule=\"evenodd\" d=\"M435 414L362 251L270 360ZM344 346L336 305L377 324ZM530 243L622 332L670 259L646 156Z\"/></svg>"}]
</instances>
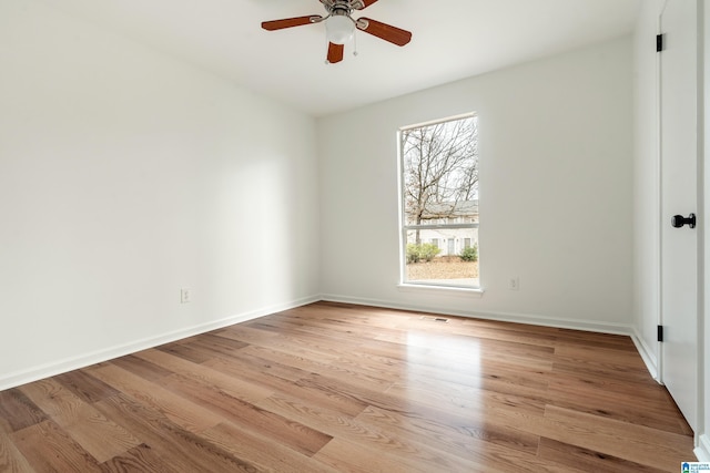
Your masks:
<instances>
[{"instance_id":1,"label":"ceiling fan with reddish-brown wooden blades and white light globe","mask_svg":"<svg viewBox=\"0 0 710 473\"><path fill-rule=\"evenodd\" d=\"M284 28L302 27L305 24L325 22L326 38L328 40L327 63L336 63L343 60L345 43L355 34L355 28L374 37L403 47L412 40L412 33L399 28L369 19L352 17L353 10L364 10L377 0L318 0L325 7L327 16L312 14L308 17L285 18L262 22L262 28L267 31L283 30Z\"/></svg>"}]
</instances>

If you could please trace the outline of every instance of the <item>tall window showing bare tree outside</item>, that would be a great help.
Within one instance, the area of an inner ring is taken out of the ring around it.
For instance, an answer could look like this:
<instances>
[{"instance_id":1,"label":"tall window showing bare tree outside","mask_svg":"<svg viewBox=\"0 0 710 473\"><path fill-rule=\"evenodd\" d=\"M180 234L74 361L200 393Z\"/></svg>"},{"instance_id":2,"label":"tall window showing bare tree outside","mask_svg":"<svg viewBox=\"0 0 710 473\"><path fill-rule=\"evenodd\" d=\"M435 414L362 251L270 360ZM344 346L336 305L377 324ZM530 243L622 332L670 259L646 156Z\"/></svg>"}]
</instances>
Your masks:
<instances>
[{"instance_id":1,"label":"tall window showing bare tree outside","mask_svg":"<svg viewBox=\"0 0 710 473\"><path fill-rule=\"evenodd\" d=\"M402 281L478 288L478 119L399 130Z\"/></svg>"}]
</instances>

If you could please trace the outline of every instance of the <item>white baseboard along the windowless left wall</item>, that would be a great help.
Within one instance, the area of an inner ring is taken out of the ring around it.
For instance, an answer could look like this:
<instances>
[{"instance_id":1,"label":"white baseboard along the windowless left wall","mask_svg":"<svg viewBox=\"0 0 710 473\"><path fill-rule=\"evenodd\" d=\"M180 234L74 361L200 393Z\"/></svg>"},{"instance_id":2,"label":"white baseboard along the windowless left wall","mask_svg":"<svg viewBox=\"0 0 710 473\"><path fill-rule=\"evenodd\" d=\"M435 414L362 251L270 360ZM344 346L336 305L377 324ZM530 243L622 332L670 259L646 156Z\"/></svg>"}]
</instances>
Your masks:
<instances>
[{"instance_id":1,"label":"white baseboard along the windowless left wall","mask_svg":"<svg viewBox=\"0 0 710 473\"><path fill-rule=\"evenodd\" d=\"M28 370L22 370L9 374L2 374L0 377L0 391L14 388L28 382L38 381L44 378L53 377L57 374L65 373L80 368L85 368L91 364L100 363L103 361L112 360L114 358L123 357L126 354L135 353L136 351L146 350L149 348L158 347L163 343L170 343L183 338L193 337L195 335L205 333L211 330L221 329L235 323L245 322L247 320L256 319L258 317L267 316L270 313L280 312L282 310L293 309L295 307L305 306L320 300L318 297L307 297L296 299L290 302L264 307L257 310L252 310L244 313L227 317L225 319L214 320L199 326L189 327L181 330L175 330L168 333L162 333L155 337L150 337L143 340L132 341L108 349L94 351L92 353L82 354L79 357L67 358L51 363L45 363L39 367L34 367Z\"/></svg>"}]
</instances>

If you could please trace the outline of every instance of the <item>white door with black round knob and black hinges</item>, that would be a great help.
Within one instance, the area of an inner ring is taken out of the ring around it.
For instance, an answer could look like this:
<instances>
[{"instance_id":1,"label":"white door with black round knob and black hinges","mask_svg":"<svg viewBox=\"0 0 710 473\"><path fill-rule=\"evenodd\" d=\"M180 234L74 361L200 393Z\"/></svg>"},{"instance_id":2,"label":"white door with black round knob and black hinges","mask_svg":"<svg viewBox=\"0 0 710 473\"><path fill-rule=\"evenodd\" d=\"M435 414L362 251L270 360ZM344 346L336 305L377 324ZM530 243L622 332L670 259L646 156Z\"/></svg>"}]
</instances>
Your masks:
<instances>
[{"instance_id":1,"label":"white door with black round knob and black hinges","mask_svg":"<svg viewBox=\"0 0 710 473\"><path fill-rule=\"evenodd\" d=\"M697 0L668 0L660 18L661 380L698 421L698 230L671 226L698 206Z\"/></svg>"}]
</instances>

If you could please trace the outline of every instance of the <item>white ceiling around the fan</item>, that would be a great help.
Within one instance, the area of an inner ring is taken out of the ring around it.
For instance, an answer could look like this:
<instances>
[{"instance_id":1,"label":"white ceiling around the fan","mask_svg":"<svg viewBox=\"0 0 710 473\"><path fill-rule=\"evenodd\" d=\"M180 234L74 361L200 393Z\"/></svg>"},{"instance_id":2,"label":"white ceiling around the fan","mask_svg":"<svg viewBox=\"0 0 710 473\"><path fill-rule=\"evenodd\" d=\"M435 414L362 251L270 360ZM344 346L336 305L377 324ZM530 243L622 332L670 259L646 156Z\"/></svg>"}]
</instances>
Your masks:
<instances>
[{"instance_id":1,"label":"white ceiling around the fan","mask_svg":"<svg viewBox=\"0 0 710 473\"><path fill-rule=\"evenodd\" d=\"M264 95L323 116L632 31L641 0L379 0L368 17L413 32L404 48L356 35L358 55L325 64L318 0L43 0Z\"/></svg>"}]
</instances>

